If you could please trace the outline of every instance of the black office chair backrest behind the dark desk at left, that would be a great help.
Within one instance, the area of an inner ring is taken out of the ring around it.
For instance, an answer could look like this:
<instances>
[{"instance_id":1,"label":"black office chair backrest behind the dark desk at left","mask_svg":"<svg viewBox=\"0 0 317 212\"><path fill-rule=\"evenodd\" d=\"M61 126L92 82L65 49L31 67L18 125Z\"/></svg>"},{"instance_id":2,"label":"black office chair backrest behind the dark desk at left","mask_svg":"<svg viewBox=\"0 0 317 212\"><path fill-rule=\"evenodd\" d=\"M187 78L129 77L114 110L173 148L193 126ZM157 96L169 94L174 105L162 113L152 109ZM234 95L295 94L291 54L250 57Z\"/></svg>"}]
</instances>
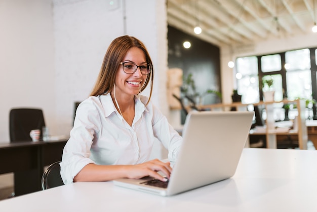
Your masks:
<instances>
[{"instance_id":1,"label":"black office chair backrest behind the dark desk at left","mask_svg":"<svg viewBox=\"0 0 317 212\"><path fill-rule=\"evenodd\" d=\"M9 131L11 142L32 140L29 134L32 129L40 129L40 137L42 137L42 127L44 126L44 115L41 109L16 108L10 111Z\"/></svg>"}]
</instances>

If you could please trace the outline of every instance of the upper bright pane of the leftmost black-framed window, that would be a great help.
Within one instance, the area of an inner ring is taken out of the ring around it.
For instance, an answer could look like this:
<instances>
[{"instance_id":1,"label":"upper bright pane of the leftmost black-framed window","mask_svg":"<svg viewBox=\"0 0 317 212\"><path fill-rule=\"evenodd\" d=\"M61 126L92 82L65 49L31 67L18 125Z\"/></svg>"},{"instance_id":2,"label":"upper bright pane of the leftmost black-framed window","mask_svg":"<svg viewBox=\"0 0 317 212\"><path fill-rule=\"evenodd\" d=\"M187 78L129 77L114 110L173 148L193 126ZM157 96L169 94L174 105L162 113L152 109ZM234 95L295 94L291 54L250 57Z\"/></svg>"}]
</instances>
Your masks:
<instances>
[{"instance_id":1,"label":"upper bright pane of the leftmost black-framed window","mask_svg":"<svg viewBox=\"0 0 317 212\"><path fill-rule=\"evenodd\" d=\"M236 73L242 75L258 75L258 59L256 56L236 59Z\"/></svg>"}]
</instances>

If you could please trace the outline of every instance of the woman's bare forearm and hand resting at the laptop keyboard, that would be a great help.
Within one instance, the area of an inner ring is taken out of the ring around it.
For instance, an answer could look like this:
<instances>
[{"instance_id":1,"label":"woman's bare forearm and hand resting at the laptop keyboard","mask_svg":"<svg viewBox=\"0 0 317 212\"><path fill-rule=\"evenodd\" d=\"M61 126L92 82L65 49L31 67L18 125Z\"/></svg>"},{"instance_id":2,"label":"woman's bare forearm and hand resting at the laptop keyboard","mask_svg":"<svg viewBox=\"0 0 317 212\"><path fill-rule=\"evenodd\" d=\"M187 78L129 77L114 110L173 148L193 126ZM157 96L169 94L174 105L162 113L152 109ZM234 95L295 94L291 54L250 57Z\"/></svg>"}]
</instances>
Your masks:
<instances>
[{"instance_id":1,"label":"woman's bare forearm and hand resting at the laptop keyboard","mask_svg":"<svg viewBox=\"0 0 317 212\"><path fill-rule=\"evenodd\" d=\"M73 182L111 181L119 178L140 179L143 176L152 176L155 179L166 181L161 171L169 179L172 168L170 162L164 163L158 159L150 160L137 165L86 165L74 177Z\"/></svg>"}]
</instances>

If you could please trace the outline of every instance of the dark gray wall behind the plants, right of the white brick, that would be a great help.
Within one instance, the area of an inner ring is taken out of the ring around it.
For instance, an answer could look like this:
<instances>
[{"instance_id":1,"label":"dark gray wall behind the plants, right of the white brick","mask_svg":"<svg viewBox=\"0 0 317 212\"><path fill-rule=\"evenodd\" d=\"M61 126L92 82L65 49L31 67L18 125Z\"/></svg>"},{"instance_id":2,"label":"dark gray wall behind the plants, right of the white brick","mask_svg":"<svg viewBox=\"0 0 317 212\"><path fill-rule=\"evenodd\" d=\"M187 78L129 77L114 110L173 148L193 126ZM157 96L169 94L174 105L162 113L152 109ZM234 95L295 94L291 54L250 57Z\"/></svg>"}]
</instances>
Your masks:
<instances>
[{"instance_id":1,"label":"dark gray wall behind the plants, right of the white brick","mask_svg":"<svg viewBox=\"0 0 317 212\"><path fill-rule=\"evenodd\" d=\"M191 47L185 49L183 42L189 41ZM168 66L183 70L183 75L192 73L197 91L207 89L221 92L220 85L220 50L217 46L190 36L172 26L168 26ZM206 95L204 104L221 101L213 94Z\"/></svg>"}]
</instances>

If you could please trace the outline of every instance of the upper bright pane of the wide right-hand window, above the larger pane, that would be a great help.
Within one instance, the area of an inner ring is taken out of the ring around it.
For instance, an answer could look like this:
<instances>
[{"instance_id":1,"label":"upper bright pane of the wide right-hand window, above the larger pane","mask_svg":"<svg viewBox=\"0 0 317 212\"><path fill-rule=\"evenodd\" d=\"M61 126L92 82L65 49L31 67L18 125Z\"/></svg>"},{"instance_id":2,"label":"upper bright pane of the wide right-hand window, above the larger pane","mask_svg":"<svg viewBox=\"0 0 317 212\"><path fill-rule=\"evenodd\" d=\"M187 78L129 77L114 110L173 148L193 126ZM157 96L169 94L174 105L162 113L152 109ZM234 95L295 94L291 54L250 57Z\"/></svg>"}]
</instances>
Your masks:
<instances>
[{"instance_id":1,"label":"upper bright pane of the wide right-hand window, above the larger pane","mask_svg":"<svg viewBox=\"0 0 317 212\"><path fill-rule=\"evenodd\" d=\"M300 49L285 53L286 70L305 70L310 68L309 49Z\"/></svg>"}]
</instances>

